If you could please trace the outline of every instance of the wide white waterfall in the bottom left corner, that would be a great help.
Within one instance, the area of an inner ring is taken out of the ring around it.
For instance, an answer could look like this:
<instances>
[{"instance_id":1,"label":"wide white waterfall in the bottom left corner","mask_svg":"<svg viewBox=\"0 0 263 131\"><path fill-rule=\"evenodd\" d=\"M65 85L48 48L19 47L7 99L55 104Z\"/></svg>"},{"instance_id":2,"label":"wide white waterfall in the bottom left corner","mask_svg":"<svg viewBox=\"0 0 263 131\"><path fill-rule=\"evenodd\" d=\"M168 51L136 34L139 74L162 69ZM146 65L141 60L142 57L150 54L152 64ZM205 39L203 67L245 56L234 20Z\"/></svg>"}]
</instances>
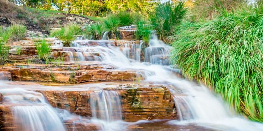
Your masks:
<instances>
[{"instance_id":1,"label":"wide white waterfall in the bottom left corner","mask_svg":"<svg viewBox=\"0 0 263 131\"><path fill-rule=\"evenodd\" d=\"M19 88L1 89L2 104L10 107L19 131L65 131L56 110L41 93Z\"/></svg>"}]
</instances>

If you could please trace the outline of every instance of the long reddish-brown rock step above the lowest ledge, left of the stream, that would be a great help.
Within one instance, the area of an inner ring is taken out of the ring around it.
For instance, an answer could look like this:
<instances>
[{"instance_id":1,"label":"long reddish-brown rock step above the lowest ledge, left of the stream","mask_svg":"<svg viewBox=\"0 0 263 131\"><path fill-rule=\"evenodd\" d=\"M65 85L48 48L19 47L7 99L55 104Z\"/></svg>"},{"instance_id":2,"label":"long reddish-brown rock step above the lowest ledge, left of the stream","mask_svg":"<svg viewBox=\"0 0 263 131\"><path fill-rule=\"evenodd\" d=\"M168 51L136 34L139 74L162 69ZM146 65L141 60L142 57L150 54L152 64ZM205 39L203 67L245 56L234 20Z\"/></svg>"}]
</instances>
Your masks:
<instances>
[{"instance_id":1,"label":"long reddish-brown rock step above the lowest ledge, left of the stream","mask_svg":"<svg viewBox=\"0 0 263 131\"><path fill-rule=\"evenodd\" d=\"M55 66L55 67L54 67ZM136 81L143 80L142 71L105 69L98 66L75 65L67 68L56 65L16 64L1 66L0 71L10 72L13 81L70 82Z\"/></svg>"}]
</instances>

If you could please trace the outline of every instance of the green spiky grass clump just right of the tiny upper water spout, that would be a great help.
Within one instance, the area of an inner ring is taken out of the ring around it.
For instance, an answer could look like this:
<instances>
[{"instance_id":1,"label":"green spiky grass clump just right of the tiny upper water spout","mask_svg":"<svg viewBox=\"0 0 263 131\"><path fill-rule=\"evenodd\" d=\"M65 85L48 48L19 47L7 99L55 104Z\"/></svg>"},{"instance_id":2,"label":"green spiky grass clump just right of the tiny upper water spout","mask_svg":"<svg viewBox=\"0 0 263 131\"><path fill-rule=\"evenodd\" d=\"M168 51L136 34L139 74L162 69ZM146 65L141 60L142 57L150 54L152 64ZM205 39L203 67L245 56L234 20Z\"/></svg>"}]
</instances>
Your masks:
<instances>
[{"instance_id":1,"label":"green spiky grass clump just right of the tiny upper water spout","mask_svg":"<svg viewBox=\"0 0 263 131\"><path fill-rule=\"evenodd\" d=\"M117 38L118 27L120 26L120 20L114 16L108 16L103 20L104 27L107 31L109 31L113 37Z\"/></svg>"}]
</instances>

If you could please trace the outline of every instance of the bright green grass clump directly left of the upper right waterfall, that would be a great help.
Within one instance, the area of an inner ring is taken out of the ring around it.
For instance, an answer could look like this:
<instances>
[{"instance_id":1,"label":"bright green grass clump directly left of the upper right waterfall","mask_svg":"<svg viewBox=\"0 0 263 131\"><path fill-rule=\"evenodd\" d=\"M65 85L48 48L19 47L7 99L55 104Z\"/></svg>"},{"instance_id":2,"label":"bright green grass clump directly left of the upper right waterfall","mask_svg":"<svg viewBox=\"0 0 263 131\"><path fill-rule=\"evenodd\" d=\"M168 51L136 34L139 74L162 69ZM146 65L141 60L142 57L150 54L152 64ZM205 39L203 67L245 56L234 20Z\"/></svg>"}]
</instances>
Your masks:
<instances>
[{"instance_id":1,"label":"bright green grass clump directly left of the upper right waterfall","mask_svg":"<svg viewBox=\"0 0 263 131\"><path fill-rule=\"evenodd\" d=\"M152 26L146 24L144 21L138 21L136 23L136 32L135 36L137 40L142 40L143 44L141 45L141 49L144 51L146 47L149 46L149 42L151 39Z\"/></svg>"}]
</instances>

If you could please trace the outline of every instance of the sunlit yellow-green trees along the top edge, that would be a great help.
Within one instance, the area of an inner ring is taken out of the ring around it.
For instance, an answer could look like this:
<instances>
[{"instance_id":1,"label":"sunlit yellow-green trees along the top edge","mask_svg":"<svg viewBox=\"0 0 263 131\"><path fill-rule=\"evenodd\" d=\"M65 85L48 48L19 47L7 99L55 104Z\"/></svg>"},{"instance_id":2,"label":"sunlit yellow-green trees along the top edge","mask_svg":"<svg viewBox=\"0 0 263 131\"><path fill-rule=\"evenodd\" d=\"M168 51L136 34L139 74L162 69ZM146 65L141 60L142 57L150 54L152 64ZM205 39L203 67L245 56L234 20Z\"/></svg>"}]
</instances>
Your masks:
<instances>
[{"instance_id":1,"label":"sunlit yellow-green trees along the top edge","mask_svg":"<svg viewBox=\"0 0 263 131\"><path fill-rule=\"evenodd\" d=\"M67 10L68 13L87 16L106 16L108 13L116 13L120 9L131 10L131 12L139 12L141 14L148 15L148 13L151 13L155 6L159 3L159 1L156 0L15 0L12 2L20 6L22 5L23 7L50 10L48 11L50 13L52 13L51 10Z\"/></svg>"}]
</instances>

